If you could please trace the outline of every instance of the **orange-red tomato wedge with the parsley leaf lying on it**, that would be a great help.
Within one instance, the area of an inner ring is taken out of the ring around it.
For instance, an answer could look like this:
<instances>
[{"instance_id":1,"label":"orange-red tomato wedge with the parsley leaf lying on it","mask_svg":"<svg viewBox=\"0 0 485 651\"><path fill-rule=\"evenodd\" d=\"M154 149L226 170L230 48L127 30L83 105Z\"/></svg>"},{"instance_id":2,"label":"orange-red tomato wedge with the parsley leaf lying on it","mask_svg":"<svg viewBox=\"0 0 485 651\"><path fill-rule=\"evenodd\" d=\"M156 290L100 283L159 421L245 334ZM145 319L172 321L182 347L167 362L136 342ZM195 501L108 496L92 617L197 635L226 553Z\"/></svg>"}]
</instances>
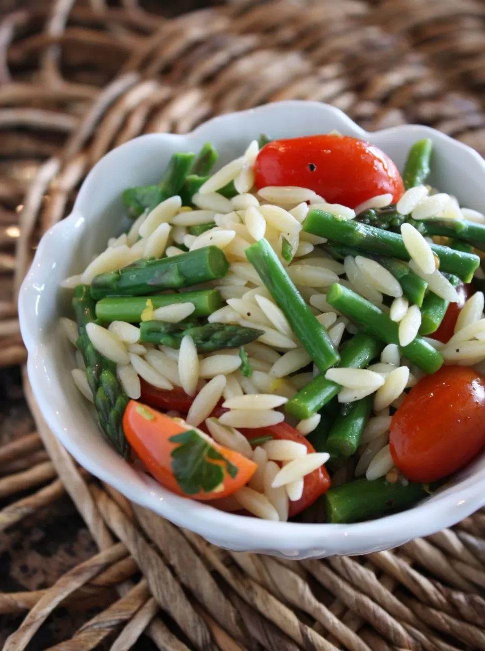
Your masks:
<instances>
[{"instance_id":1,"label":"orange-red tomato wedge with the parsley leaf lying on it","mask_svg":"<svg viewBox=\"0 0 485 651\"><path fill-rule=\"evenodd\" d=\"M150 473L178 495L221 499L247 484L257 469L253 461L191 430L181 419L135 400L125 409L123 430Z\"/></svg>"}]
</instances>

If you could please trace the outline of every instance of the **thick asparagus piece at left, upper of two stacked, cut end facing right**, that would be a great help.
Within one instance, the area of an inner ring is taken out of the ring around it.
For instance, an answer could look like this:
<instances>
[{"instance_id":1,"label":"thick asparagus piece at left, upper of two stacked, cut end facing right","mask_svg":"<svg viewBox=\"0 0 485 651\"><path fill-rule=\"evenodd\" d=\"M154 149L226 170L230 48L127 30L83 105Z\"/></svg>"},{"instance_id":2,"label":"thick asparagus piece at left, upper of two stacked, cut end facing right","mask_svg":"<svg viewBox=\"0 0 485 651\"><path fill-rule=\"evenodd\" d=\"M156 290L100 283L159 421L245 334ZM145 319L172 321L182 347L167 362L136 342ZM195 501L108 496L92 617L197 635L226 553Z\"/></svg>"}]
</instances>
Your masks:
<instances>
[{"instance_id":1,"label":"thick asparagus piece at left, upper of two stacked, cut end facing right","mask_svg":"<svg viewBox=\"0 0 485 651\"><path fill-rule=\"evenodd\" d=\"M229 269L226 256L215 246L180 253L171 258L140 260L135 266L100 273L92 279L91 296L141 296L180 289L222 278Z\"/></svg>"}]
</instances>

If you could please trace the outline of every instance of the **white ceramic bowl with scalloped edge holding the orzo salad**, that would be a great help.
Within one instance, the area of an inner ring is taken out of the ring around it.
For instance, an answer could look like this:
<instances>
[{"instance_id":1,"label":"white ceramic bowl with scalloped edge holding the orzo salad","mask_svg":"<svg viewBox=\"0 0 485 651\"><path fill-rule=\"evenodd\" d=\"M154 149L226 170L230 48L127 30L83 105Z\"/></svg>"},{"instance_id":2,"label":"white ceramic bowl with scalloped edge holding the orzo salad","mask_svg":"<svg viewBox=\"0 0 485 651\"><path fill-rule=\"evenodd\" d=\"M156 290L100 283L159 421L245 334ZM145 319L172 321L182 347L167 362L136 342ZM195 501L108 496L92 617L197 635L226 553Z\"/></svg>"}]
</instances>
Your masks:
<instances>
[{"instance_id":1,"label":"white ceramic bowl with scalloped edge holding the orzo salad","mask_svg":"<svg viewBox=\"0 0 485 651\"><path fill-rule=\"evenodd\" d=\"M19 309L29 352L29 379L44 418L61 443L96 477L133 502L220 547L292 559L363 554L434 533L485 505L485 458L458 475L454 485L415 508L352 525L299 524L245 518L207 503L173 495L122 460L105 442L87 401L71 379L74 355L59 336L59 316L70 315L71 292L59 283L83 270L107 239L126 226L121 193L158 182L171 154L197 151L211 141L221 163L239 156L260 133L273 138L327 133L367 139L402 169L409 146L430 137L435 156L431 183L470 208L484 210L485 163L471 148L424 126L366 133L339 110L316 102L280 102L214 118L187 135L153 133L109 152L87 176L74 210L42 238L21 287Z\"/></svg>"}]
</instances>

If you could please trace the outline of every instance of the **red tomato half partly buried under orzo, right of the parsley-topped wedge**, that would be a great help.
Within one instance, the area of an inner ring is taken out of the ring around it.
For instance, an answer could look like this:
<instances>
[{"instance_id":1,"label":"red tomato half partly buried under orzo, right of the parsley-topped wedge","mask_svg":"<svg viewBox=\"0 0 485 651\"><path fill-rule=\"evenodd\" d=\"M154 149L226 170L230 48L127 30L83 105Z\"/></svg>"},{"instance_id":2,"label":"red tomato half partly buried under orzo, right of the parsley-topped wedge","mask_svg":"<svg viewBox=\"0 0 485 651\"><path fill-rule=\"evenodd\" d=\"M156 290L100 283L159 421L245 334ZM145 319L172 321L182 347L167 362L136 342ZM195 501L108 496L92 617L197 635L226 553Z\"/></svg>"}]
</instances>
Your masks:
<instances>
[{"instance_id":1,"label":"red tomato half partly buried under orzo, right of the parsley-topped wedge","mask_svg":"<svg viewBox=\"0 0 485 651\"><path fill-rule=\"evenodd\" d=\"M242 429L240 430L244 436L251 441L256 437L268 436L271 434L275 439L285 439L287 441L296 441L297 443L303 443L307 446L309 454L314 452L315 449L312 444L307 441L307 439L300 434L298 430L293 428L291 425L288 425L286 422L280 422L277 425L271 425L269 427L261 427L256 430ZM311 506L320 495L323 495L330 488L330 477L326 471L325 466L317 468L312 473L307 475L303 480L303 495L297 502L290 502L290 512L289 517L298 515L301 511L304 511L305 508Z\"/></svg>"}]
</instances>

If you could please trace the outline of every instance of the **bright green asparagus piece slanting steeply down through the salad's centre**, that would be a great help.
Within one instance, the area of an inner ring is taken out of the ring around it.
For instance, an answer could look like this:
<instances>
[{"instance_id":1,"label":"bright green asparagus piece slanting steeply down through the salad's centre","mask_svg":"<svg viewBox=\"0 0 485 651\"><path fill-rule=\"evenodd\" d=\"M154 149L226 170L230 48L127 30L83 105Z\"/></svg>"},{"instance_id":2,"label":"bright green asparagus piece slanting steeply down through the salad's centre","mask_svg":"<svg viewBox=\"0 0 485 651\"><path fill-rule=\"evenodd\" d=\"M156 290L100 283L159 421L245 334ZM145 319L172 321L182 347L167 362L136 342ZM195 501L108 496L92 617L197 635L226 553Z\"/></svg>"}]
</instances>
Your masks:
<instances>
[{"instance_id":1,"label":"bright green asparagus piece slanting steeply down through the salad's centre","mask_svg":"<svg viewBox=\"0 0 485 651\"><path fill-rule=\"evenodd\" d=\"M318 369L324 371L335 365L340 355L326 328L301 298L268 240L262 238L251 244L245 254Z\"/></svg>"}]
</instances>

